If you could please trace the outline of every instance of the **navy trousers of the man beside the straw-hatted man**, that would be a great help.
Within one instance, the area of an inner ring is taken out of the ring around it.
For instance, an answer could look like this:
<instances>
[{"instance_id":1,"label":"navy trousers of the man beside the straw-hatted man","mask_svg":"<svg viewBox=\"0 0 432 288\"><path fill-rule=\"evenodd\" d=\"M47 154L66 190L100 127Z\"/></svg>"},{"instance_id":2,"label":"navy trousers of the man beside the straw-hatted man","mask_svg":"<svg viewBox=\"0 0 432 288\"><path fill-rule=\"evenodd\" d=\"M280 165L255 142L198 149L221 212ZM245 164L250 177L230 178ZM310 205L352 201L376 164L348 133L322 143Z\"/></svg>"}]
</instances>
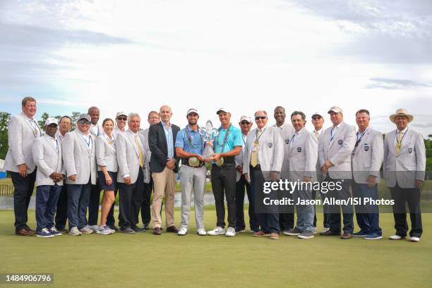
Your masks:
<instances>
[{"instance_id":1,"label":"navy trousers of the man beside the straw-hatted man","mask_svg":"<svg viewBox=\"0 0 432 288\"><path fill-rule=\"evenodd\" d=\"M378 184L369 188L368 184L358 184L352 181L352 195L354 198L361 198L362 205L356 205L357 224L361 232L366 234L376 233L382 235L383 232L379 226L380 214L378 205L364 205L364 198L378 200Z\"/></svg>"}]
</instances>

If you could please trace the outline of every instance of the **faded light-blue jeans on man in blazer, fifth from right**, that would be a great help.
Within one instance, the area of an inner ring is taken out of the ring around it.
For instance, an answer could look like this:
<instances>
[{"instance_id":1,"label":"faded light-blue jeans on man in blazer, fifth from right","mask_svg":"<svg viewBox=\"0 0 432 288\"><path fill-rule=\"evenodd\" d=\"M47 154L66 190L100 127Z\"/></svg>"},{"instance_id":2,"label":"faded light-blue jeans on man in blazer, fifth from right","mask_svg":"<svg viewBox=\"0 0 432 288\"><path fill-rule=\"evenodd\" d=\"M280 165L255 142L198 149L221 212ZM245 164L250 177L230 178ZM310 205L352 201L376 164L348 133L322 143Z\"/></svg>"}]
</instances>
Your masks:
<instances>
[{"instance_id":1,"label":"faded light-blue jeans on man in blazer, fifth from right","mask_svg":"<svg viewBox=\"0 0 432 288\"><path fill-rule=\"evenodd\" d=\"M312 191L299 190L294 191L294 203L298 203L299 200L311 200ZM315 216L315 206L314 205L297 205L297 223L296 227L301 232L308 231L313 232L313 217Z\"/></svg>"}]
</instances>

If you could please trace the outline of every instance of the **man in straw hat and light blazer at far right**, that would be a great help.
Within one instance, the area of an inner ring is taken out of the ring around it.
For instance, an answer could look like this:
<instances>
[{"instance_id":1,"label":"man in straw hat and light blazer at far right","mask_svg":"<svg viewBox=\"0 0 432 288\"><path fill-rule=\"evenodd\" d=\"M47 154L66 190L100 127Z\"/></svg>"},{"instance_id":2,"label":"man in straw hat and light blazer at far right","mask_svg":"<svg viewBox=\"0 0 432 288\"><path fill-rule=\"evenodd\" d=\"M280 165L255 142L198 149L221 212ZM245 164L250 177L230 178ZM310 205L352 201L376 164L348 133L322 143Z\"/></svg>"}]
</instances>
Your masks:
<instances>
[{"instance_id":1,"label":"man in straw hat and light blazer at far right","mask_svg":"<svg viewBox=\"0 0 432 288\"><path fill-rule=\"evenodd\" d=\"M409 241L419 242L423 227L421 224L420 190L426 172L426 148L421 133L414 131L408 124L414 116L405 109L397 109L390 116L396 129L385 135L384 140L384 176L390 188L395 217L395 235L391 240L404 239L407 236L407 210L411 218Z\"/></svg>"}]
</instances>

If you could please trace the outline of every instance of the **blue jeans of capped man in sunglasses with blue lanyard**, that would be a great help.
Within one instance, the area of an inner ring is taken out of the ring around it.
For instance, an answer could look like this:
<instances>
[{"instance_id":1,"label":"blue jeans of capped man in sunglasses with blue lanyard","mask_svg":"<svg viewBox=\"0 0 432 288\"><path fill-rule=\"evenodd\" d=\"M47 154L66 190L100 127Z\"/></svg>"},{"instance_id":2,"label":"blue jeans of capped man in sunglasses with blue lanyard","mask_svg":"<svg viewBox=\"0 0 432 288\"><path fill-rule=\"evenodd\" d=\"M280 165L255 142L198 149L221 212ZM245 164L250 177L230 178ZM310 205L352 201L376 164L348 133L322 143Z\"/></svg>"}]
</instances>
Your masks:
<instances>
[{"instance_id":1,"label":"blue jeans of capped man in sunglasses with blue lanyard","mask_svg":"<svg viewBox=\"0 0 432 288\"><path fill-rule=\"evenodd\" d=\"M88 184L68 184L68 222L69 229L78 227L82 229L87 225L85 216L87 215L88 204L90 203L90 190L92 186Z\"/></svg>"}]
</instances>

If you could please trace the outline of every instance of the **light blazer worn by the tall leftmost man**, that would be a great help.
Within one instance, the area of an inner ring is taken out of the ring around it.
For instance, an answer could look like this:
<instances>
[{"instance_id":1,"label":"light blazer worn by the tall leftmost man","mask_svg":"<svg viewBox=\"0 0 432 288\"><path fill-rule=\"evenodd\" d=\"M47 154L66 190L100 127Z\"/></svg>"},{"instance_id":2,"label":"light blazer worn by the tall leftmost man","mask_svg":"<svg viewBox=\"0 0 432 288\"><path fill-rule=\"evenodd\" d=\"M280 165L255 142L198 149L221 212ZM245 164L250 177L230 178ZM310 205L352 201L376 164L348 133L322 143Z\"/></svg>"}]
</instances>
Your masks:
<instances>
[{"instance_id":1,"label":"light blazer worn by the tall leftmost man","mask_svg":"<svg viewBox=\"0 0 432 288\"><path fill-rule=\"evenodd\" d=\"M37 125L37 122L36 122ZM8 123L9 150L4 160L4 169L9 172L19 172L18 165L27 164L28 173L35 170L32 157L32 145L35 139L42 136L42 130L37 125L37 133L24 113L12 116Z\"/></svg>"}]
</instances>

